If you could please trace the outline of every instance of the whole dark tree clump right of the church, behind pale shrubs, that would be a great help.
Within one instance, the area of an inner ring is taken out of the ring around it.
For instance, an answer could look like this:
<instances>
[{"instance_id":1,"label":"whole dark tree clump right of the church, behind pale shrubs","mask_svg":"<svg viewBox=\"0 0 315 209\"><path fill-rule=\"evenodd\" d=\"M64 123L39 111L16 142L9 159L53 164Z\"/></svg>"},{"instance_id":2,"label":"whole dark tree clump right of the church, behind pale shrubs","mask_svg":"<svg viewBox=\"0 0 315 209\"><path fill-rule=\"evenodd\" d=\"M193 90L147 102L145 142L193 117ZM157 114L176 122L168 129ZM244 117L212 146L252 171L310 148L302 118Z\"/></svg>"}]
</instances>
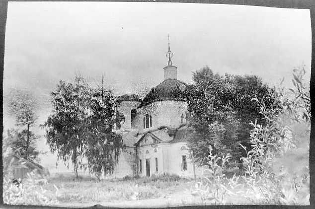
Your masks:
<instances>
[{"instance_id":1,"label":"whole dark tree clump right of the church, behind pale shrubs","mask_svg":"<svg viewBox=\"0 0 315 209\"><path fill-rule=\"evenodd\" d=\"M222 76L208 66L194 72L192 79L195 84L186 92L192 134L189 147L197 163L206 163L209 145L214 147L214 153L230 152L234 159L239 159L242 150L237 144L248 141L248 121L262 118L250 99L257 95L260 99L264 97L269 106L275 106L274 90L258 76Z\"/></svg>"}]
</instances>

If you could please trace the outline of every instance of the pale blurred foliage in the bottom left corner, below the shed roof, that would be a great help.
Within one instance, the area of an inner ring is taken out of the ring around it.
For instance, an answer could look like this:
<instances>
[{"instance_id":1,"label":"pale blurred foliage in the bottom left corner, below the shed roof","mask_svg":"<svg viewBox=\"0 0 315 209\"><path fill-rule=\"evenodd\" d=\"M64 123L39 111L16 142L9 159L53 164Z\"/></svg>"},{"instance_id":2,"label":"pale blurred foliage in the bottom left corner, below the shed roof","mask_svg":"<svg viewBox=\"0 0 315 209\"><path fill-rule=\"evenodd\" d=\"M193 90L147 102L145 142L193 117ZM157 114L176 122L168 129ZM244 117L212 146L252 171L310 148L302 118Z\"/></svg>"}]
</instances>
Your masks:
<instances>
[{"instance_id":1,"label":"pale blurred foliage in the bottom left corner, below the shed roof","mask_svg":"<svg viewBox=\"0 0 315 209\"><path fill-rule=\"evenodd\" d=\"M17 187L12 180L3 177L3 202L9 205L55 205L58 204L56 197L59 190L55 187L53 193L45 190L43 185L47 180L41 178L34 172L28 174L23 182Z\"/></svg>"}]
</instances>

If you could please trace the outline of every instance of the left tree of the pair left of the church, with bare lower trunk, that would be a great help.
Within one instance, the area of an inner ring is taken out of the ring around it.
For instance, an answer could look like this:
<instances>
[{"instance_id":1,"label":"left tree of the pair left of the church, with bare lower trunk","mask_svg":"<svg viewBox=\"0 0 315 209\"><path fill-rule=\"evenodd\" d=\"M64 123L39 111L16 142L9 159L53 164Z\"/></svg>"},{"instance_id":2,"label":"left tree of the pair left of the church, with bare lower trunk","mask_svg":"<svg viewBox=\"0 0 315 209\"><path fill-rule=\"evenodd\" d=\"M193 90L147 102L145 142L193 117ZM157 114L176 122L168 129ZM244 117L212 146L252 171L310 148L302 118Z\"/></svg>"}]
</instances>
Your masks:
<instances>
[{"instance_id":1,"label":"left tree of the pair left of the church, with bare lower trunk","mask_svg":"<svg viewBox=\"0 0 315 209\"><path fill-rule=\"evenodd\" d=\"M65 164L71 158L77 178L79 156L83 155L86 140L89 95L88 84L81 76L77 75L74 83L61 80L51 93L53 113L42 125L50 150L57 151L58 160Z\"/></svg>"}]
</instances>

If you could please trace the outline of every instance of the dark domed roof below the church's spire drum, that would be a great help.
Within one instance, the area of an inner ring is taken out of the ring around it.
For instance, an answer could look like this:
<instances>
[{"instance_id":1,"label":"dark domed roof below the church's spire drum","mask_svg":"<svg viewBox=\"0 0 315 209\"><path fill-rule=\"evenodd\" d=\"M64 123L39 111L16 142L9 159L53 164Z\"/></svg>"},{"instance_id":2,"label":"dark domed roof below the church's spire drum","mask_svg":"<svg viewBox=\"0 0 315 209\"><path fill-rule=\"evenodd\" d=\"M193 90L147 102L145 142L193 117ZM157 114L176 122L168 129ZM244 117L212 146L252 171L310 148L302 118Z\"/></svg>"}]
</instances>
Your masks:
<instances>
[{"instance_id":1,"label":"dark domed roof below the church's spire drum","mask_svg":"<svg viewBox=\"0 0 315 209\"><path fill-rule=\"evenodd\" d=\"M185 101L184 91L188 84L177 79L166 79L157 87L151 89L151 91L142 100L139 107L146 106L155 101L163 100L179 100Z\"/></svg>"}]
</instances>

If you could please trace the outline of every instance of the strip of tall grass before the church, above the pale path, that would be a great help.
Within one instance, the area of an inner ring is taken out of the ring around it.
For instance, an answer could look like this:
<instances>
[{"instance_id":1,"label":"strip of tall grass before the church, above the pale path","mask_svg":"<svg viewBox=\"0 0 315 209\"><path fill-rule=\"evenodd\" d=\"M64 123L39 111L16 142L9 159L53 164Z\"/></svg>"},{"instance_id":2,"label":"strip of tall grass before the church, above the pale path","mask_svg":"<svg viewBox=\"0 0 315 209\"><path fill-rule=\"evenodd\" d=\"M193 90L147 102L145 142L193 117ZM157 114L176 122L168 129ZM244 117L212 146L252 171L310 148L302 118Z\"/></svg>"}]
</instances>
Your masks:
<instances>
[{"instance_id":1,"label":"strip of tall grass before the church, above the pale path","mask_svg":"<svg viewBox=\"0 0 315 209\"><path fill-rule=\"evenodd\" d=\"M117 181L95 181L88 178L74 181L73 176L59 174L49 180L59 188L60 195L57 200L60 203L68 204L155 199L162 195L161 190L166 191L168 188L179 185L182 181L185 180L173 174L144 178L126 176ZM52 188L50 185L46 185L46 189Z\"/></svg>"}]
</instances>

